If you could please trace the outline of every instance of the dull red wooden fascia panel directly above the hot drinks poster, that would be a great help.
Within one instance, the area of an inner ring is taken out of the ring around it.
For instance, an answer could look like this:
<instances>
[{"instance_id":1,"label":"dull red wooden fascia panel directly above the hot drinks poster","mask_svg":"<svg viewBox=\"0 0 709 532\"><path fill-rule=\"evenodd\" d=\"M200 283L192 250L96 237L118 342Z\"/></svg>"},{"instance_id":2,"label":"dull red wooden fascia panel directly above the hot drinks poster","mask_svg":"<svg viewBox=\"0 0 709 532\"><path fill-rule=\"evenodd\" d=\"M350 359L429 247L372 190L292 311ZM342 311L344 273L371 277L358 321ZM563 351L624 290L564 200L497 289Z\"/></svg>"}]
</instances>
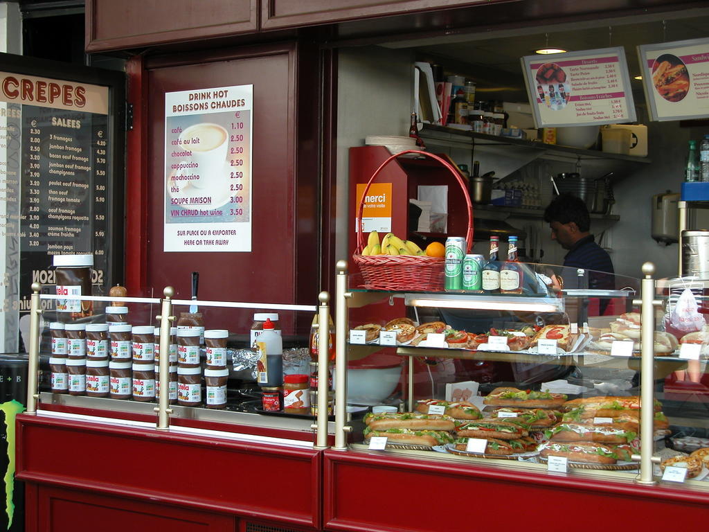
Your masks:
<instances>
[{"instance_id":1,"label":"dull red wooden fascia panel directly above the hot drinks poster","mask_svg":"<svg viewBox=\"0 0 709 532\"><path fill-rule=\"evenodd\" d=\"M255 32L258 0L88 0L86 51Z\"/></svg>"}]
</instances>

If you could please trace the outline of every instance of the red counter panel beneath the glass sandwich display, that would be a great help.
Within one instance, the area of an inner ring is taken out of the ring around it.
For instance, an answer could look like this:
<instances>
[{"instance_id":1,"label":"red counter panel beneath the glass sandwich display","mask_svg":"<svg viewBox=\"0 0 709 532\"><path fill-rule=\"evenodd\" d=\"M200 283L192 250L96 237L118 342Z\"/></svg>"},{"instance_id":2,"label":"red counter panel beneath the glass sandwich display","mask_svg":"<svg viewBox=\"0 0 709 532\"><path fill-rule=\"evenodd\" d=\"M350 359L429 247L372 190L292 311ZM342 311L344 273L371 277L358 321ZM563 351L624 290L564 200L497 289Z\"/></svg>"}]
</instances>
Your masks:
<instances>
[{"instance_id":1,"label":"red counter panel beneath the glass sandwich display","mask_svg":"<svg viewBox=\"0 0 709 532\"><path fill-rule=\"evenodd\" d=\"M324 472L323 526L330 531L493 530L505 516L518 522L520 516L510 514L515 509L532 519L527 524L530 530L568 527L574 532L598 532L603 525L596 516L603 512L612 513L606 519L613 521L614 529L625 531L691 529L709 516L706 492L503 466L329 450ZM459 509L452 511L451 501ZM533 518L529 509L535 509ZM549 509L547 517L540 517L536 509Z\"/></svg>"}]
</instances>

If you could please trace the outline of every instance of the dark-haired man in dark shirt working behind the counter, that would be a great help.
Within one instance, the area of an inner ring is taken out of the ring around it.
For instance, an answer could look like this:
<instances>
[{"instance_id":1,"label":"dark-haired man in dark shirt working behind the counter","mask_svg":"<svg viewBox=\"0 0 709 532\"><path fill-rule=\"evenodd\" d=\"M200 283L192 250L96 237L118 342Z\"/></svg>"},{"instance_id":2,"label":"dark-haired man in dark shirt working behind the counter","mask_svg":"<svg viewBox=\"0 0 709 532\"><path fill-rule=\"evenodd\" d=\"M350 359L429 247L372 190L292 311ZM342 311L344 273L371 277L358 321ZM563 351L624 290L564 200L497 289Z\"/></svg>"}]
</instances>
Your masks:
<instances>
[{"instance_id":1,"label":"dark-haired man in dark shirt working behind the counter","mask_svg":"<svg viewBox=\"0 0 709 532\"><path fill-rule=\"evenodd\" d=\"M608 252L596 244L593 235L588 232L591 218L584 200L571 194L561 194L547 206L544 220L552 229L552 240L557 240L562 248L569 250L564 257L564 267L591 270L588 272L588 288L615 288L613 262ZM604 275L603 272L611 275ZM565 272L564 286L567 288L577 287L574 273L569 270Z\"/></svg>"}]
</instances>

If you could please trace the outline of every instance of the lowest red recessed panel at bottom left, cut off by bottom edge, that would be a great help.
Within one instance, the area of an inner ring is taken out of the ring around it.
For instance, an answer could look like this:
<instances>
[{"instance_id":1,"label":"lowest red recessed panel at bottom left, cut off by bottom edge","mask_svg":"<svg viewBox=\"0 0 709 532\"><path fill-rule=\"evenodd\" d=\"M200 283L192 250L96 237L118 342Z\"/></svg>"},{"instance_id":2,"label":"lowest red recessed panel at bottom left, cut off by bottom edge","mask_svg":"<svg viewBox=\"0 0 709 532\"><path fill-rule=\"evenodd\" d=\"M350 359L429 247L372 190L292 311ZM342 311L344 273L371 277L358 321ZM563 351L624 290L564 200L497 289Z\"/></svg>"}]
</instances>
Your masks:
<instances>
[{"instance_id":1,"label":"lowest red recessed panel at bottom left, cut off by bottom edge","mask_svg":"<svg viewBox=\"0 0 709 532\"><path fill-rule=\"evenodd\" d=\"M38 499L40 531L227 532L236 529L234 516L74 489L40 487Z\"/></svg>"}]
</instances>

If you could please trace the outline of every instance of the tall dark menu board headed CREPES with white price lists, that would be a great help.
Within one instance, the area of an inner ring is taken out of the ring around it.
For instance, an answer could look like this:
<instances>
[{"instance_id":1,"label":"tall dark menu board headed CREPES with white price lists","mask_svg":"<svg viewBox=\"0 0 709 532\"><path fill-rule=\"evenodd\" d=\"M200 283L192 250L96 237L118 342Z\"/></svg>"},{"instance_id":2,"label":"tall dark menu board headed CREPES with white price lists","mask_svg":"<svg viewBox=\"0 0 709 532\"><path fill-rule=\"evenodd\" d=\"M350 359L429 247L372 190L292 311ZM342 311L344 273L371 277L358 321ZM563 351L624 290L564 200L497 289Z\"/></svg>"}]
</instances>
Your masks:
<instances>
[{"instance_id":1,"label":"tall dark menu board headed CREPES with white price lists","mask_svg":"<svg viewBox=\"0 0 709 532\"><path fill-rule=\"evenodd\" d=\"M0 348L18 349L30 285L51 255L94 255L108 281L108 87L0 72ZM52 308L43 301L43 308Z\"/></svg>"}]
</instances>

